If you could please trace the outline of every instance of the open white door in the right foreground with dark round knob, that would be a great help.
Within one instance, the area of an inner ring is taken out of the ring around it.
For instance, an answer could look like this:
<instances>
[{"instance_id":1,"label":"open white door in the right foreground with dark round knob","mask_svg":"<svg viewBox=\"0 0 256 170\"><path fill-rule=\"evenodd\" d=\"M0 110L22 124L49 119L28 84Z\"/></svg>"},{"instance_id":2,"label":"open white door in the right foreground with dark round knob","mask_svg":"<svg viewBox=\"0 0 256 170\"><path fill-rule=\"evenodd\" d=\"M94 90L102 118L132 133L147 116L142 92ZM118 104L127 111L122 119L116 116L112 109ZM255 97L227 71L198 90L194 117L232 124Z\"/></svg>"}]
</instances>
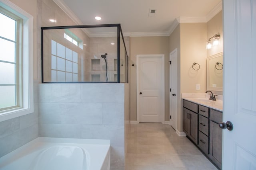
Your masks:
<instances>
[{"instance_id":1,"label":"open white door in the right foreground with dark round knob","mask_svg":"<svg viewBox=\"0 0 256 170\"><path fill-rule=\"evenodd\" d=\"M223 0L222 169L256 170L256 0Z\"/></svg>"}]
</instances>

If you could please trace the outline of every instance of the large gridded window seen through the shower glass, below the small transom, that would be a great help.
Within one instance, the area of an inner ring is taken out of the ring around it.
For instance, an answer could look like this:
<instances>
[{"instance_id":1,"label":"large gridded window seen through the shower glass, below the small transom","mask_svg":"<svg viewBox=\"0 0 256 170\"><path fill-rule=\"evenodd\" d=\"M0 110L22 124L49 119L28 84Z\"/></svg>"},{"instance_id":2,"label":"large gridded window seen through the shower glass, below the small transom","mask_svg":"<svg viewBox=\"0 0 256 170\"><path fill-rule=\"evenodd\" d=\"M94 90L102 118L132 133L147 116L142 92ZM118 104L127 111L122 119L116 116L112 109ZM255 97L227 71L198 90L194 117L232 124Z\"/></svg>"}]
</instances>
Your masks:
<instances>
[{"instance_id":1,"label":"large gridded window seen through the shower glass, below the small transom","mask_svg":"<svg viewBox=\"0 0 256 170\"><path fill-rule=\"evenodd\" d=\"M52 82L78 82L78 53L52 40Z\"/></svg>"}]
</instances>

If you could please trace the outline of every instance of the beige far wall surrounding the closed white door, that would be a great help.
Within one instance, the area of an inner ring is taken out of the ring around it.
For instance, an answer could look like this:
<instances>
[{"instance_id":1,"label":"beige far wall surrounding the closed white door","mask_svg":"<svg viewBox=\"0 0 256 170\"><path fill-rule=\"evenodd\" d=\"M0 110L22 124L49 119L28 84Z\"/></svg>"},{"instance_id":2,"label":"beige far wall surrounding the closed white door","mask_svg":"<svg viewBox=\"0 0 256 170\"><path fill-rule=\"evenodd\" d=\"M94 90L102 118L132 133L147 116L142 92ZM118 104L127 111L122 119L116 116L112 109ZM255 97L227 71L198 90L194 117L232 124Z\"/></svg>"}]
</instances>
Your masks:
<instances>
[{"instance_id":1,"label":"beige far wall surrounding the closed white door","mask_svg":"<svg viewBox=\"0 0 256 170\"><path fill-rule=\"evenodd\" d=\"M165 121L169 121L169 37L130 37L129 56L129 89L130 89L130 120L137 120L136 101L136 55L165 55ZM134 66L132 66L134 64Z\"/></svg>"}]
</instances>

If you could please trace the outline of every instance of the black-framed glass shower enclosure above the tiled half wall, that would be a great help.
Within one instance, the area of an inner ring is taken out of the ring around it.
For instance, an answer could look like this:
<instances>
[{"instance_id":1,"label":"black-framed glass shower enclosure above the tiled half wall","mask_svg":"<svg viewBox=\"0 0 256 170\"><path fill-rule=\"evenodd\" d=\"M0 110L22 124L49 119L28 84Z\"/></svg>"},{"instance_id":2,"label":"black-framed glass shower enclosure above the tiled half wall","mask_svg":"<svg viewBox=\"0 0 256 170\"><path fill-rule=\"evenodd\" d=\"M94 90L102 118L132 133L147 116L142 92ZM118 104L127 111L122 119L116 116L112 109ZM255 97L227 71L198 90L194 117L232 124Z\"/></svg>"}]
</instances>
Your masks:
<instances>
[{"instance_id":1,"label":"black-framed glass shower enclosure above the tiled half wall","mask_svg":"<svg viewBox=\"0 0 256 170\"><path fill-rule=\"evenodd\" d=\"M42 83L127 83L120 24L42 27Z\"/></svg>"}]
</instances>

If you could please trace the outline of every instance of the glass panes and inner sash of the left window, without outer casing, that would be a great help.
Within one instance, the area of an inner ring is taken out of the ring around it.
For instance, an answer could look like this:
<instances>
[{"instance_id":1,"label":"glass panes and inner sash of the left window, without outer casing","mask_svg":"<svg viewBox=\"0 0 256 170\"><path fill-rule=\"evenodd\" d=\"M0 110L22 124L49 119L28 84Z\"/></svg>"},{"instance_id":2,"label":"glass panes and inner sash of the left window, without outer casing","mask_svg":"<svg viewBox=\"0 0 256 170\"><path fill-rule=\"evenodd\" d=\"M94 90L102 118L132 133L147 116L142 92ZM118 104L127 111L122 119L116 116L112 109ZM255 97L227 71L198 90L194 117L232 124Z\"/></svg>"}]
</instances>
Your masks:
<instances>
[{"instance_id":1,"label":"glass panes and inner sash of the left window, without outer casing","mask_svg":"<svg viewBox=\"0 0 256 170\"><path fill-rule=\"evenodd\" d=\"M19 107L19 23L20 18L0 12L0 111Z\"/></svg>"}]
</instances>

